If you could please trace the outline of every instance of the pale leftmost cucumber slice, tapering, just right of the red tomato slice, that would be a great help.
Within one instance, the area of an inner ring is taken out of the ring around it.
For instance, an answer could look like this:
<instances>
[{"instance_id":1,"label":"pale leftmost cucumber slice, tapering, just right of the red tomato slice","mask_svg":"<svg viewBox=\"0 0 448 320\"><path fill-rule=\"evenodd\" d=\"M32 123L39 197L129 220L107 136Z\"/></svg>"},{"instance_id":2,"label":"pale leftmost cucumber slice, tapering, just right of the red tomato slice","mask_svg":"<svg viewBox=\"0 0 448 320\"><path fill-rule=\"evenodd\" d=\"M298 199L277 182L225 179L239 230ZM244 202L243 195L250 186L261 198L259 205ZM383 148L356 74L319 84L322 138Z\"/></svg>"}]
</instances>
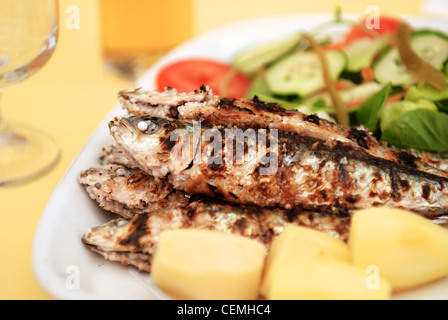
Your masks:
<instances>
[{"instance_id":1,"label":"pale leftmost cucumber slice, tapering, just right of the red tomato slice","mask_svg":"<svg viewBox=\"0 0 448 320\"><path fill-rule=\"evenodd\" d=\"M233 58L233 65L243 73L253 75L263 66L275 61L297 47L302 39L302 35L294 35L279 41L262 43L250 47L236 54Z\"/></svg>"}]
</instances>

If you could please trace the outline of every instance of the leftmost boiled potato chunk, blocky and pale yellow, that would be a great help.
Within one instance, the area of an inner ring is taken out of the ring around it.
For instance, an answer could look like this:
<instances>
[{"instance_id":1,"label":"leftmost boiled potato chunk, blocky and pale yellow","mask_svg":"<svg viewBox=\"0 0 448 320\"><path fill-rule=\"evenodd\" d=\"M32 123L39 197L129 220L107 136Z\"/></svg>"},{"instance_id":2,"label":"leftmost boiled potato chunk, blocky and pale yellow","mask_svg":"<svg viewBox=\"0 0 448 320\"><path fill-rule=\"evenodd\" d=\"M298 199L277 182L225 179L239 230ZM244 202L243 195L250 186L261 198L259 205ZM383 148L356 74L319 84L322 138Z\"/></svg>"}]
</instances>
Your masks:
<instances>
[{"instance_id":1,"label":"leftmost boiled potato chunk, blocky and pale yellow","mask_svg":"<svg viewBox=\"0 0 448 320\"><path fill-rule=\"evenodd\" d=\"M266 248L217 231L164 231L152 264L154 282L175 299L256 299Z\"/></svg>"}]
</instances>

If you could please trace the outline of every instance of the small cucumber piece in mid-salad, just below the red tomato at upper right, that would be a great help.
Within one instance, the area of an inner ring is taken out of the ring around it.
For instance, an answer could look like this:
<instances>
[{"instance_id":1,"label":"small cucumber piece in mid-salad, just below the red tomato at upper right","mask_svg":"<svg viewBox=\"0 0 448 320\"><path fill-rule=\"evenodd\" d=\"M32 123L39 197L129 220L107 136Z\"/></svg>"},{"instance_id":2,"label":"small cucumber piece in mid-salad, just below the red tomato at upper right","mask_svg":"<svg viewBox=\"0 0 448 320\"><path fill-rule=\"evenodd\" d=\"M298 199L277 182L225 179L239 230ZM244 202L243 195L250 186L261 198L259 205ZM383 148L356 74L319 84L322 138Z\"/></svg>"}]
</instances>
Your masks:
<instances>
[{"instance_id":1,"label":"small cucumber piece in mid-salad, just below the red tomato at upper right","mask_svg":"<svg viewBox=\"0 0 448 320\"><path fill-rule=\"evenodd\" d=\"M344 52L348 57L347 70L358 72L361 69L371 66L376 54L387 44L388 37L378 37L376 39L360 38L350 43Z\"/></svg>"}]
</instances>

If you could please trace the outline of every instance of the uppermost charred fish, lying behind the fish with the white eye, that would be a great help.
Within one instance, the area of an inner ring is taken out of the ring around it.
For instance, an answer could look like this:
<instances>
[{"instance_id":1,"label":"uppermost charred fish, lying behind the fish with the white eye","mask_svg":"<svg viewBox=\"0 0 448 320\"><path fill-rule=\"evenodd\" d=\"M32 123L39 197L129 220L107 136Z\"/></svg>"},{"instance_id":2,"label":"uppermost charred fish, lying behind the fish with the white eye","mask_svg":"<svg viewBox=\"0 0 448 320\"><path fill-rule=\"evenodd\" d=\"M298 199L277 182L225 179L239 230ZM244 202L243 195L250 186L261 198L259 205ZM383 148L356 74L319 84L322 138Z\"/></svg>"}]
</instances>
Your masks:
<instances>
[{"instance_id":1,"label":"uppermost charred fish, lying behind the fish with the white eye","mask_svg":"<svg viewBox=\"0 0 448 320\"><path fill-rule=\"evenodd\" d=\"M256 96L240 100L219 98L210 88L201 87L191 93L177 93L173 88L163 92L124 90L119 93L119 100L124 109L137 116L295 132L329 142L346 143L373 156L448 178L448 160L427 162L428 154L423 159L415 153L389 148L363 128L343 127L316 115L285 110L279 104L264 103Z\"/></svg>"}]
</instances>

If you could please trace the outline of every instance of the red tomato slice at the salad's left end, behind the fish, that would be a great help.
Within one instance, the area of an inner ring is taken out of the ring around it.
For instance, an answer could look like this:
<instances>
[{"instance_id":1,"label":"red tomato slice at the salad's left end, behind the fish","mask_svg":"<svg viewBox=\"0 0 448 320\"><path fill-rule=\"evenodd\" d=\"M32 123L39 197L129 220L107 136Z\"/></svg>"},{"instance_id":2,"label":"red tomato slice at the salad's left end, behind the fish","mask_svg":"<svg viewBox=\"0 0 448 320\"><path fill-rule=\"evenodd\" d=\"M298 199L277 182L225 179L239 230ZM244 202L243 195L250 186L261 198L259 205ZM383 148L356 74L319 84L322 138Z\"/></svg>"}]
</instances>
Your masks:
<instances>
[{"instance_id":1,"label":"red tomato slice at the salad's left end, behind the fish","mask_svg":"<svg viewBox=\"0 0 448 320\"><path fill-rule=\"evenodd\" d=\"M200 86L209 86L213 93L221 95L220 89L232 66L220 61L207 59L185 59L165 66L157 75L157 90L172 87L179 92L192 92ZM251 86L251 79L235 71L223 93L226 98L244 98Z\"/></svg>"}]
</instances>

